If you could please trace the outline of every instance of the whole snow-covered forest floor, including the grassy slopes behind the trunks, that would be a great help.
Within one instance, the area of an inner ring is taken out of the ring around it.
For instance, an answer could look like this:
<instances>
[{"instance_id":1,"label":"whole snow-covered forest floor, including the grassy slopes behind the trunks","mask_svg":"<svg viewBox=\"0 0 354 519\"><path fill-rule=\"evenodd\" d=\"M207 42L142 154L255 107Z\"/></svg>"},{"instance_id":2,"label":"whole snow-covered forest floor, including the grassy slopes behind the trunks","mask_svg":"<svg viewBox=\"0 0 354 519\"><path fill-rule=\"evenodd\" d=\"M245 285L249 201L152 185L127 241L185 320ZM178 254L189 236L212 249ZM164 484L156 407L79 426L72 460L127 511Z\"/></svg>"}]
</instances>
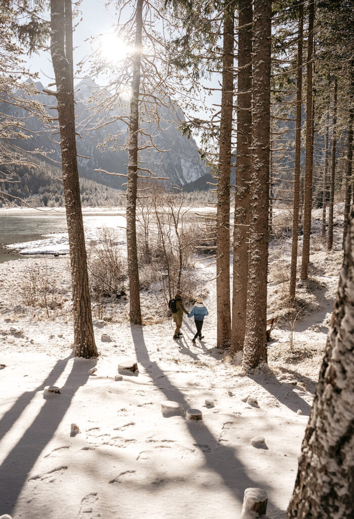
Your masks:
<instances>
[{"instance_id":1,"label":"whole snow-covered forest floor, including the grassy slopes behind the trunks","mask_svg":"<svg viewBox=\"0 0 354 519\"><path fill-rule=\"evenodd\" d=\"M58 248L65 245L57 236L50 239ZM292 351L287 280L281 273L281 268L288 271L288 261L287 246L272 251L269 313L279 322L269 345L269 368L247 376L215 347L215 281L209 281L215 266L196 264L209 291L202 342L191 343L195 326L188 319L177 342L167 317L131 326L118 317L126 315L127 302L118 301L110 320L95 317L99 358L83 360L72 354L68 258L1 264L0 514L13 519L234 519L241 515L245 488L260 487L268 492L268 515L284 519L341 252L318 250L311 256L309 279L298 290L304 310ZM56 273L67 300L64 308L68 305L52 319L18 302L22 276L41 262ZM157 305L153 294L144 295L144 315ZM127 359L138 363L139 374L114 380L119 362ZM94 366L97 371L89 375ZM61 394L45 395L51 385ZM248 396L258 405L247 403ZM180 403L185 412L200 409L202 422L164 417L166 400ZM79 427L75 436L71 424ZM251 444L255 436L263 436L262 448Z\"/></svg>"}]
</instances>

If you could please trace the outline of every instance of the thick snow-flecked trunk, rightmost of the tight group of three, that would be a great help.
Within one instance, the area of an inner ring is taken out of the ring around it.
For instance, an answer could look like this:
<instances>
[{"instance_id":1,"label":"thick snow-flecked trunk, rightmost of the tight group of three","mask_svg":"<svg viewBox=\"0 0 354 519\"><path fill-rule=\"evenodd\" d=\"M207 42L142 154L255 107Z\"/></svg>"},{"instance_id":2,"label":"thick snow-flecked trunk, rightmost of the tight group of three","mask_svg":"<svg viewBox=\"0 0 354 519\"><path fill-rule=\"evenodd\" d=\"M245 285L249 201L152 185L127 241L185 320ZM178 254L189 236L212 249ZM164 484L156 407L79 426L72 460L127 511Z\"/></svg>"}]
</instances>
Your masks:
<instances>
[{"instance_id":1,"label":"thick snow-flecked trunk, rightmost of the tight group of three","mask_svg":"<svg viewBox=\"0 0 354 519\"><path fill-rule=\"evenodd\" d=\"M252 176L246 335L242 365L267 362L271 0L254 0Z\"/></svg>"}]
</instances>

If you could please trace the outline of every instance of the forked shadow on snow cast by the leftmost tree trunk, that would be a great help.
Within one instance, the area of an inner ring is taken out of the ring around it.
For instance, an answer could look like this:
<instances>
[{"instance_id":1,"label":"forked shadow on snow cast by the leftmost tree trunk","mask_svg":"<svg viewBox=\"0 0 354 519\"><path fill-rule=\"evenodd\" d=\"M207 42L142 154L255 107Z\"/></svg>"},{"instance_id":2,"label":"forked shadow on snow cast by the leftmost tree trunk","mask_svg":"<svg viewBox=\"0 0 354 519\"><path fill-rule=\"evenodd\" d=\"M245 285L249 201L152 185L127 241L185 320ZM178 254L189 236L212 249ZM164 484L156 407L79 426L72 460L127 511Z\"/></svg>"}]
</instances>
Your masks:
<instances>
[{"instance_id":1,"label":"forked shadow on snow cast by the leftmost tree trunk","mask_svg":"<svg viewBox=\"0 0 354 519\"><path fill-rule=\"evenodd\" d=\"M72 354L66 359L58 361L41 386L35 391L24 393L22 399L20 397L18 400L20 403L14 404L12 409L4 416L5 426L10 428L9 420L14 420L21 414L21 409L23 410L30 403L37 391L57 380L70 358L72 358ZM22 438L5 458L0 467L0 503L2 503L0 513L12 514L28 474L30 474L42 450L55 434L76 391L86 384L90 376L87 373L89 367L93 367L96 362L95 359L92 359L89 366L87 361L83 361L83 359L74 359L71 372L64 386L60 388L61 394L53 394L51 398L45 400L32 424L24 431Z\"/></svg>"}]
</instances>

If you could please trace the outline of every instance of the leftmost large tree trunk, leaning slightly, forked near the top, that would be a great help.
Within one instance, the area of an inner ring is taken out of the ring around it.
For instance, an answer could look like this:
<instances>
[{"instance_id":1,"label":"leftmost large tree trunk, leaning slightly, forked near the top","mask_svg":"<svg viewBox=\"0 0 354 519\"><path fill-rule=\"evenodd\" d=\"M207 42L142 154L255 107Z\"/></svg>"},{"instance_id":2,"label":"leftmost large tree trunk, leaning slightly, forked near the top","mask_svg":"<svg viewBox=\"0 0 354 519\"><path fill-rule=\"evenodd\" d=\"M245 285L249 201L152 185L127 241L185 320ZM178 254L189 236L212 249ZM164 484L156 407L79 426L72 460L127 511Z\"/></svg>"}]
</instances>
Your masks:
<instances>
[{"instance_id":1,"label":"leftmost large tree trunk, leaning slightly, forked near the top","mask_svg":"<svg viewBox=\"0 0 354 519\"><path fill-rule=\"evenodd\" d=\"M50 50L55 74L63 188L69 235L74 352L76 357L97 357L92 325L89 277L82 222L76 151L70 0L51 0Z\"/></svg>"}]
</instances>

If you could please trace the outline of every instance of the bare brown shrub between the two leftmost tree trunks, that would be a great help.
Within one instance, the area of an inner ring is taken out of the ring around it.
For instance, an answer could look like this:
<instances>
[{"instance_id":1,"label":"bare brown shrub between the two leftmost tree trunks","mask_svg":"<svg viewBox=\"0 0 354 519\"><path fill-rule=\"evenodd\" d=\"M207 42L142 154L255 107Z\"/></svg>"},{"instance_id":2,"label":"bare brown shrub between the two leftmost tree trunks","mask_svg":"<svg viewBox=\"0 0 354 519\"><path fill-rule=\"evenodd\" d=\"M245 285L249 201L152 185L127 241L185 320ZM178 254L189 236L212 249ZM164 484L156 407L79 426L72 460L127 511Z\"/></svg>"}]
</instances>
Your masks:
<instances>
[{"instance_id":1,"label":"bare brown shrub between the two leftmost tree trunks","mask_svg":"<svg viewBox=\"0 0 354 519\"><path fill-rule=\"evenodd\" d=\"M97 297L111 296L124 291L127 266L114 229L105 227L97 241L91 242L87 263L90 286Z\"/></svg>"}]
</instances>

